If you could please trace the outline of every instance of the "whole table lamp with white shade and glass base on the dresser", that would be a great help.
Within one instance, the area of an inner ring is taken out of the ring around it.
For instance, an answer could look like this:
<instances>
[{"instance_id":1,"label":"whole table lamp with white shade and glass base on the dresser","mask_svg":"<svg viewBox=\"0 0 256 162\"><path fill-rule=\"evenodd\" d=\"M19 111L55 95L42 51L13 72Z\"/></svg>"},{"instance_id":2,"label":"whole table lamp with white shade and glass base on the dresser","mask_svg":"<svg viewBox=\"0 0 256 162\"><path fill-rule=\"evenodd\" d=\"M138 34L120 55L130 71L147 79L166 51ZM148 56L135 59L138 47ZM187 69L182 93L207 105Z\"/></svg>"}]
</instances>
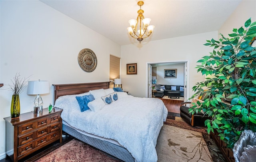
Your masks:
<instances>
[{"instance_id":1,"label":"whole table lamp with white shade and glass base on the dresser","mask_svg":"<svg viewBox=\"0 0 256 162\"><path fill-rule=\"evenodd\" d=\"M27 94L36 94L34 100L34 114L42 113L43 111L43 100L40 94L50 93L50 86L48 81L28 81Z\"/></svg>"}]
</instances>

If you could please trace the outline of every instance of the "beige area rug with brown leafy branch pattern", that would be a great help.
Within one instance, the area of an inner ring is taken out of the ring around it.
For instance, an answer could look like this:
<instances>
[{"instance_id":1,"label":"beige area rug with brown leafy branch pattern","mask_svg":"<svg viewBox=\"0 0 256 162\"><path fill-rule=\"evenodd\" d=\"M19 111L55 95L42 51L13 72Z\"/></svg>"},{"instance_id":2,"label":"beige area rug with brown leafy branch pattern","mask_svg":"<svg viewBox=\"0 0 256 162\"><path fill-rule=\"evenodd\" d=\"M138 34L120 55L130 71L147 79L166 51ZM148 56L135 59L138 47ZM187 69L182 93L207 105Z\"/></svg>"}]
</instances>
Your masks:
<instances>
[{"instance_id":1,"label":"beige area rug with brown leafy branch pattern","mask_svg":"<svg viewBox=\"0 0 256 162\"><path fill-rule=\"evenodd\" d=\"M158 162L212 162L202 133L164 124L156 144Z\"/></svg>"}]
</instances>

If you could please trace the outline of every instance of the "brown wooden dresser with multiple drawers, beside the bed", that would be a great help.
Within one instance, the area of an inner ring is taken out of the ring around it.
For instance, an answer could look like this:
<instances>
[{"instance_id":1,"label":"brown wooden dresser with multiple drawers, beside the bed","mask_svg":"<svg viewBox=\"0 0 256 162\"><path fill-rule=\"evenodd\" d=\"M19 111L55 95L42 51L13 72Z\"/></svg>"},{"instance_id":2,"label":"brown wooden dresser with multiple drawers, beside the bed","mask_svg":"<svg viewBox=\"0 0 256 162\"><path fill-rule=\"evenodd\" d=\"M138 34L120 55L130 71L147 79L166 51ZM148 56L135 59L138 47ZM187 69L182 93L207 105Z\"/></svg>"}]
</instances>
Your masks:
<instances>
[{"instance_id":1,"label":"brown wooden dresser with multiple drawers, beside the bed","mask_svg":"<svg viewBox=\"0 0 256 162\"><path fill-rule=\"evenodd\" d=\"M14 162L56 141L62 142L62 109L44 108L41 114L27 112L6 122L6 155Z\"/></svg>"}]
</instances>

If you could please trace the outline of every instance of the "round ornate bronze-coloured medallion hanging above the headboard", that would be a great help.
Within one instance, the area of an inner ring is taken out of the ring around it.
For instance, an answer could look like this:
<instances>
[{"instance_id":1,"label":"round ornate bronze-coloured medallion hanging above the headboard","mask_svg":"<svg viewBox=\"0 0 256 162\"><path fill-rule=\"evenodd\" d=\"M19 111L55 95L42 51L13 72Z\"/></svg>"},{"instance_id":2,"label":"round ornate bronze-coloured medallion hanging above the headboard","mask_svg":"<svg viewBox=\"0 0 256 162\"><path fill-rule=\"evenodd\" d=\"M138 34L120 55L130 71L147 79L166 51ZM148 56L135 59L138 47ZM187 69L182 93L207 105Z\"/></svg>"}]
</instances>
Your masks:
<instances>
[{"instance_id":1,"label":"round ornate bronze-coloured medallion hanging above the headboard","mask_svg":"<svg viewBox=\"0 0 256 162\"><path fill-rule=\"evenodd\" d=\"M78 64L86 72L92 72L97 66L97 57L89 48L82 49L78 54Z\"/></svg>"}]
</instances>

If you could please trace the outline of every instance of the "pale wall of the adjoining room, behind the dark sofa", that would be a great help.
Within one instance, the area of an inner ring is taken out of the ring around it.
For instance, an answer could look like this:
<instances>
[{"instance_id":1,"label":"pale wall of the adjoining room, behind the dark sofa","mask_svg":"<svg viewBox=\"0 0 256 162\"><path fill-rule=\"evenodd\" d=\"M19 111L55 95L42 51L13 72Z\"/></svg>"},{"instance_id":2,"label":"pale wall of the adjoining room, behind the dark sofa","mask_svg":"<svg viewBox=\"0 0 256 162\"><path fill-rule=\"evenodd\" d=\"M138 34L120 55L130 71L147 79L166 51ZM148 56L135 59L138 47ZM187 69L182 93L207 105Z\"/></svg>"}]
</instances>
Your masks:
<instances>
[{"instance_id":1,"label":"pale wall of the adjoining room, behind the dark sofa","mask_svg":"<svg viewBox=\"0 0 256 162\"><path fill-rule=\"evenodd\" d=\"M164 69L177 69L176 78L164 78ZM159 65L156 68L157 71L157 83L166 84L173 86L183 86L184 85L184 63L174 64L174 65Z\"/></svg>"}]
</instances>

